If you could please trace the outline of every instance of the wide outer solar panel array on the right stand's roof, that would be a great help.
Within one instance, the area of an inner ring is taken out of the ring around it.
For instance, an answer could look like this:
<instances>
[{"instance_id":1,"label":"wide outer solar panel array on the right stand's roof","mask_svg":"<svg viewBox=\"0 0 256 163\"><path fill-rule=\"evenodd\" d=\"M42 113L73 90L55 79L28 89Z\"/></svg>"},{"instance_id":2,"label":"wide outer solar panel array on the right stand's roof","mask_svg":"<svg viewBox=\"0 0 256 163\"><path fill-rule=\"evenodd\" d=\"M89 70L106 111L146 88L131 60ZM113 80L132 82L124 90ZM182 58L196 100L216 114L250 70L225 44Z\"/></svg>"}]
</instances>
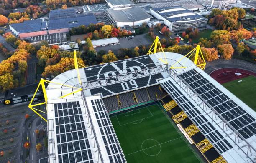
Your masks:
<instances>
[{"instance_id":1,"label":"wide outer solar panel array on the right stand's roof","mask_svg":"<svg viewBox=\"0 0 256 163\"><path fill-rule=\"evenodd\" d=\"M205 79L195 69L180 75L205 100L209 107L214 108L228 123L238 130L245 139L256 134L256 120L241 106L231 100L221 90Z\"/></svg>"}]
</instances>

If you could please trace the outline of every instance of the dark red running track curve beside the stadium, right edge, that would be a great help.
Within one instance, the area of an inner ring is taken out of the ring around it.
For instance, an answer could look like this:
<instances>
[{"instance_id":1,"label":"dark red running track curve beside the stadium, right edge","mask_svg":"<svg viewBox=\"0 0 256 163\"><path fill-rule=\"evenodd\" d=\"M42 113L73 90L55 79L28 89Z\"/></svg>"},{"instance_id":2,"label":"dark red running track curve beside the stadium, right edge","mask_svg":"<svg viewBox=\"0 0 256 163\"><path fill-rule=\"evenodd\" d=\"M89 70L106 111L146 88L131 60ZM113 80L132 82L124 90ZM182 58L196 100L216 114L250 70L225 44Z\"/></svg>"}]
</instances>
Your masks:
<instances>
[{"instance_id":1,"label":"dark red running track curve beside the stadium, right edge","mask_svg":"<svg viewBox=\"0 0 256 163\"><path fill-rule=\"evenodd\" d=\"M235 73L241 73L241 75L238 76ZM214 78L216 81L218 81L220 84L244 78L250 75L256 77L256 73L239 68L220 68L210 73L210 76Z\"/></svg>"}]
</instances>

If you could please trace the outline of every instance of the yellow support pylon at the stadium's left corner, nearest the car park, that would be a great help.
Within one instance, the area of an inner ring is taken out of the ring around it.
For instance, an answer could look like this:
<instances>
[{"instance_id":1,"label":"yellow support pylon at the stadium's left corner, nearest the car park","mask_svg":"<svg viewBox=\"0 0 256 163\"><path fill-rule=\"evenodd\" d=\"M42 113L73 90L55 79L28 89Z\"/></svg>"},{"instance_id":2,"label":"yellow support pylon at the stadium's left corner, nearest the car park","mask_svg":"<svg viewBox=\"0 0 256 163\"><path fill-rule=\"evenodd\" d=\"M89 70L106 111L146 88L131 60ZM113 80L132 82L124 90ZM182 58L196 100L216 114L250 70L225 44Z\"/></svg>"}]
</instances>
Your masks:
<instances>
[{"instance_id":1,"label":"yellow support pylon at the stadium's left corner, nearest the car park","mask_svg":"<svg viewBox=\"0 0 256 163\"><path fill-rule=\"evenodd\" d=\"M37 88L36 88L36 91L35 91L35 93L34 93L34 95L33 95L33 98L31 99L31 101L30 101L30 103L29 103L29 105L28 105L28 108L30 108L31 110L33 110L33 112L35 112L37 115L39 115L43 120L45 120L45 121L47 122L47 120L46 120L41 114L39 114L38 112L36 112L36 110L37 110L37 111L40 111L40 112L42 112L42 113L46 113L46 114L47 114L47 94L46 94L45 83L48 83L48 84L49 84L49 83L53 83L53 84L63 85L63 86L65 86L65 87L77 89L76 91L71 92L71 93L68 93L68 94L66 94L66 95L63 95L63 96L61 96L61 97L59 97L59 98L64 98L64 97L66 97L66 96L68 96L68 95L72 95L72 94L74 94L74 93L80 92L80 91L82 91L82 88L72 87L72 86L70 86L70 85L64 85L64 84L61 84L61 83L56 83L56 82L52 82L52 81L49 81L49 80L41 79L40 82L39 82L39 84L38 84L38 86L37 86ZM45 100L45 102L32 105L33 100L34 100L34 98L35 98L35 96L36 96L36 93L37 93L37 91L38 91L40 85L41 85L42 90L43 90L43 95L44 95L44 100ZM46 105L46 112L34 108L35 106L44 105L44 104Z\"/></svg>"}]
</instances>

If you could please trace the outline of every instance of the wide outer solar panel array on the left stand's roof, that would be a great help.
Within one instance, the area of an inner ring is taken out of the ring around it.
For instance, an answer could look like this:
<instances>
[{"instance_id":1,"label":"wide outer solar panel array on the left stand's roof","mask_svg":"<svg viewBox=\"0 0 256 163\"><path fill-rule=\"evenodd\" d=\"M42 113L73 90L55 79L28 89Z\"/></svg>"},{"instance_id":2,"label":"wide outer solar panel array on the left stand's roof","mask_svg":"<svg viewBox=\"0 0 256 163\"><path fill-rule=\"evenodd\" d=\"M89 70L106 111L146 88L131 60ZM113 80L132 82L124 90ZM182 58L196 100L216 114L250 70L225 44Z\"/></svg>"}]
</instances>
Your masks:
<instances>
[{"instance_id":1,"label":"wide outer solar panel array on the left stand's roof","mask_svg":"<svg viewBox=\"0 0 256 163\"><path fill-rule=\"evenodd\" d=\"M93 163L79 102L54 104L59 163Z\"/></svg>"}]
</instances>

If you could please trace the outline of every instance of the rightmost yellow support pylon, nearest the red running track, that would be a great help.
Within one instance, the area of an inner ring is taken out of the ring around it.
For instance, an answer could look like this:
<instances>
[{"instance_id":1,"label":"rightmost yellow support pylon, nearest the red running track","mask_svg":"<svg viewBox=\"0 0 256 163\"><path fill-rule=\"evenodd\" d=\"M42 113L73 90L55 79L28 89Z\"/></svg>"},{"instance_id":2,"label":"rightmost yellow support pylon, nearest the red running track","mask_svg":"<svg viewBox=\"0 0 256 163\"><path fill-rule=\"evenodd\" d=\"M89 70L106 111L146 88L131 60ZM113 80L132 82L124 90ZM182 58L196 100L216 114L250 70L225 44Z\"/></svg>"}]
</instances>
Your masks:
<instances>
[{"instance_id":1,"label":"rightmost yellow support pylon, nearest the red running track","mask_svg":"<svg viewBox=\"0 0 256 163\"><path fill-rule=\"evenodd\" d=\"M197 45L197 47L195 47L193 50L191 50L189 53L187 53L185 56L183 56L180 60L178 60L176 63L174 63L170 68L172 69L175 69L175 68L187 68L185 66L179 66L179 67L175 67L174 65L176 65L177 63L180 63L185 57L187 57L187 60L194 54L195 52L195 59L194 59L194 63L195 65L197 65L197 67L201 68L202 70L205 70L205 65L206 65L206 62L205 62L205 58L204 56L202 55L202 51L201 51L201 48L200 48L200 45ZM200 63L199 60L198 60L198 56L200 56L203 60L203 63ZM187 60L185 60L184 63L181 63L181 65L184 65Z\"/></svg>"}]
</instances>

